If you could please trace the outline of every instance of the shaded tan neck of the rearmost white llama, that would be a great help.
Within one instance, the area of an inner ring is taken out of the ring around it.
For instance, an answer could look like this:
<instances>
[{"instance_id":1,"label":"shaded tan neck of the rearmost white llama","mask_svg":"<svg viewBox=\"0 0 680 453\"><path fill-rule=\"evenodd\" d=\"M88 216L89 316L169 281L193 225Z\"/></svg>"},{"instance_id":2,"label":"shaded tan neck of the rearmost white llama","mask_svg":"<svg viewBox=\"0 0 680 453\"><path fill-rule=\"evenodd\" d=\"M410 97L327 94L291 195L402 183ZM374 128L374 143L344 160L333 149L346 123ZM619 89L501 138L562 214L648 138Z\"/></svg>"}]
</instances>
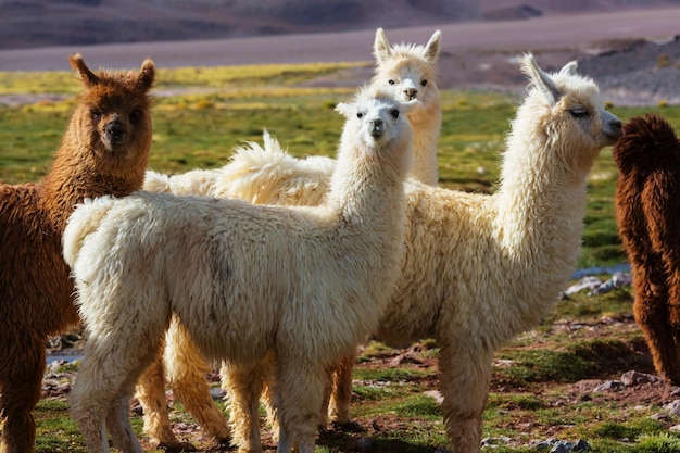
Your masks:
<instances>
[{"instance_id":1,"label":"shaded tan neck of the rearmost white llama","mask_svg":"<svg viewBox=\"0 0 680 453\"><path fill-rule=\"evenodd\" d=\"M413 168L411 176L424 184L437 186L439 171L437 144L441 128L439 93L423 109L408 114L413 126Z\"/></svg>"}]
</instances>

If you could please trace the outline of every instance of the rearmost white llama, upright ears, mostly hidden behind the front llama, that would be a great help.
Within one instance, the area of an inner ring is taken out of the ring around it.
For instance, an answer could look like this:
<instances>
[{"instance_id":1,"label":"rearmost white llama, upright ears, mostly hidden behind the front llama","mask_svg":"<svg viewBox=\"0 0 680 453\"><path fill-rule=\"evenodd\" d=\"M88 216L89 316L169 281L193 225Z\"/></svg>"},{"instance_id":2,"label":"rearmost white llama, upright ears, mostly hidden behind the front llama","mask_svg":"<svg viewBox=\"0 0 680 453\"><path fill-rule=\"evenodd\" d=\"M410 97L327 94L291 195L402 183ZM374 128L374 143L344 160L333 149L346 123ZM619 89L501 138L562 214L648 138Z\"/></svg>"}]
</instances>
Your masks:
<instances>
[{"instance_id":1,"label":"rearmost white llama, upright ears, mostly hidden behind the front llama","mask_svg":"<svg viewBox=\"0 0 680 453\"><path fill-rule=\"evenodd\" d=\"M413 127L414 164L411 176L425 184L437 185L437 142L441 126L441 104L437 87L436 63L439 56L441 32L436 30L425 46L400 43L391 46L385 30L376 30L374 41L374 56L376 59L375 75L372 86L388 89L396 98L404 101L417 99L417 108L408 112L407 117ZM264 134L266 150L280 150L278 142L266 131ZM194 169L181 175L167 176L148 171L144 180L144 190L154 192L172 192L175 194L230 197L238 193L257 204L278 205L318 205L328 191L328 181L335 167L335 160L326 156L308 156L298 161L289 154L279 151L276 155L270 152L261 153L261 162L252 162L253 153L249 154L249 166L274 166L284 169L294 162L295 174L282 178L282 172L275 168L269 174L276 175L276 181L260 181L256 193L243 193L232 188L232 181L241 179L236 175L237 166L227 165L217 169ZM248 168L244 168L248 173ZM242 175L245 176L245 175ZM284 187L282 184L287 186ZM263 189L273 187L276 190L263 193ZM252 188L243 185L248 190ZM266 201L265 201L266 200ZM144 412L144 432L151 438L152 444L167 449L185 446L173 435L169 428L169 416L164 402L164 387L161 378L166 377L177 400L203 427L204 431L219 443L230 440L230 430L219 408L207 393L207 383L204 376L209 370L205 362L196 355L197 350L180 330L179 324L172 322L168 329L169 347L165 349L165 366L154 363L140 378L137 387L137 398ZM175 347L177 344L177 347ZM178 349L182 348L184 351ZM331 403L332 407L348 407L344 402ZM332 411L335 421L349 421L349 415Z\"/></svg>"}]
</instances>

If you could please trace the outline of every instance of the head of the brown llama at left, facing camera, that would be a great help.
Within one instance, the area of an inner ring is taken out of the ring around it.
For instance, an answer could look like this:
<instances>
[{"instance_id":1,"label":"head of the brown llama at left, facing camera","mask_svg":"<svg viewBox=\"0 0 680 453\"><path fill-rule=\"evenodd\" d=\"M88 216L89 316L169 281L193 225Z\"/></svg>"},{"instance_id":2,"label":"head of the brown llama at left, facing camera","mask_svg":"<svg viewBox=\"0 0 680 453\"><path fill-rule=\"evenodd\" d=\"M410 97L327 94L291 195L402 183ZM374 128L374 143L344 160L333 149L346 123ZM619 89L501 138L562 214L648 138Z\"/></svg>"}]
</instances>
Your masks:
<instances>
[{"instance_id":1,"label":"head of the brown llama at left, facing camera","mask_svg":"<svg viewBox=\"0 0 680 453\"><path fill-rule=\"evenodd\" d=\"M68 60L85 86L67 131L76 149L86 154L78 158L114 176L130 167L146 167L152 136L149 90L155 75L153 62L147 59L138 74L95 74L79 53Z\"/></svg>"}]
</instances>

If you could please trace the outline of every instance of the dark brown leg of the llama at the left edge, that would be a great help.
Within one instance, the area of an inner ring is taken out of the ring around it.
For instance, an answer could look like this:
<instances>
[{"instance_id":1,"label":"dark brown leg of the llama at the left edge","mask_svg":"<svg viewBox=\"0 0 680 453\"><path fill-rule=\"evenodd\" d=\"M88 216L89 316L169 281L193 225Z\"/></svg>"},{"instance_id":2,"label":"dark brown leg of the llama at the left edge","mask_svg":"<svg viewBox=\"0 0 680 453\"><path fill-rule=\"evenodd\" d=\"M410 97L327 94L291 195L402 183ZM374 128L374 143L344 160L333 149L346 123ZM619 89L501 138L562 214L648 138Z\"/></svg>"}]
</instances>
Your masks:
<instances>
[{"instance_id":1,"label":"dark brown leg of the llama at the left edge","mask_svg":"<svg viewBox=\"0 0 680 453\"><path fill-rule=\"evenodd\" d=\"M33 410L40 401L41 381L45 374L45 347L40 338L4 339L0 368L0 413L2 427L2 453L27 453L34 451L36 423ZM16 354L21 351L21 354Z\"/></svg>"}]
</instances>

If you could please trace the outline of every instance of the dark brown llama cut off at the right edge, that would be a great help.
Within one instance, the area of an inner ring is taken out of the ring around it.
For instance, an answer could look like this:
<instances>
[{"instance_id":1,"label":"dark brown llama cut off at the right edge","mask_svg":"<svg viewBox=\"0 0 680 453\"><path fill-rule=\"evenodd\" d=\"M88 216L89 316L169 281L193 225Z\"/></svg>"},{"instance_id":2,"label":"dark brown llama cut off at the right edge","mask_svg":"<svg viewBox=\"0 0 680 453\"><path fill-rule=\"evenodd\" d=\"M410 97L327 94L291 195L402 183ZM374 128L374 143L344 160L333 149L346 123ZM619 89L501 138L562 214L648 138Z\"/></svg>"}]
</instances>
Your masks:
<instances>
[{"instance_id":1,"label":"dark brown llama cut off at the right edge","mask_svg":"<svg viewBox=\"0 0 680 453\"><path fill-rule=\"evenodd\" d=\"M680 142L657 115L634 117L613 150L618 228L633 277L633 313L656 372L680 385Z\"/></svg>"}]
</instances>

